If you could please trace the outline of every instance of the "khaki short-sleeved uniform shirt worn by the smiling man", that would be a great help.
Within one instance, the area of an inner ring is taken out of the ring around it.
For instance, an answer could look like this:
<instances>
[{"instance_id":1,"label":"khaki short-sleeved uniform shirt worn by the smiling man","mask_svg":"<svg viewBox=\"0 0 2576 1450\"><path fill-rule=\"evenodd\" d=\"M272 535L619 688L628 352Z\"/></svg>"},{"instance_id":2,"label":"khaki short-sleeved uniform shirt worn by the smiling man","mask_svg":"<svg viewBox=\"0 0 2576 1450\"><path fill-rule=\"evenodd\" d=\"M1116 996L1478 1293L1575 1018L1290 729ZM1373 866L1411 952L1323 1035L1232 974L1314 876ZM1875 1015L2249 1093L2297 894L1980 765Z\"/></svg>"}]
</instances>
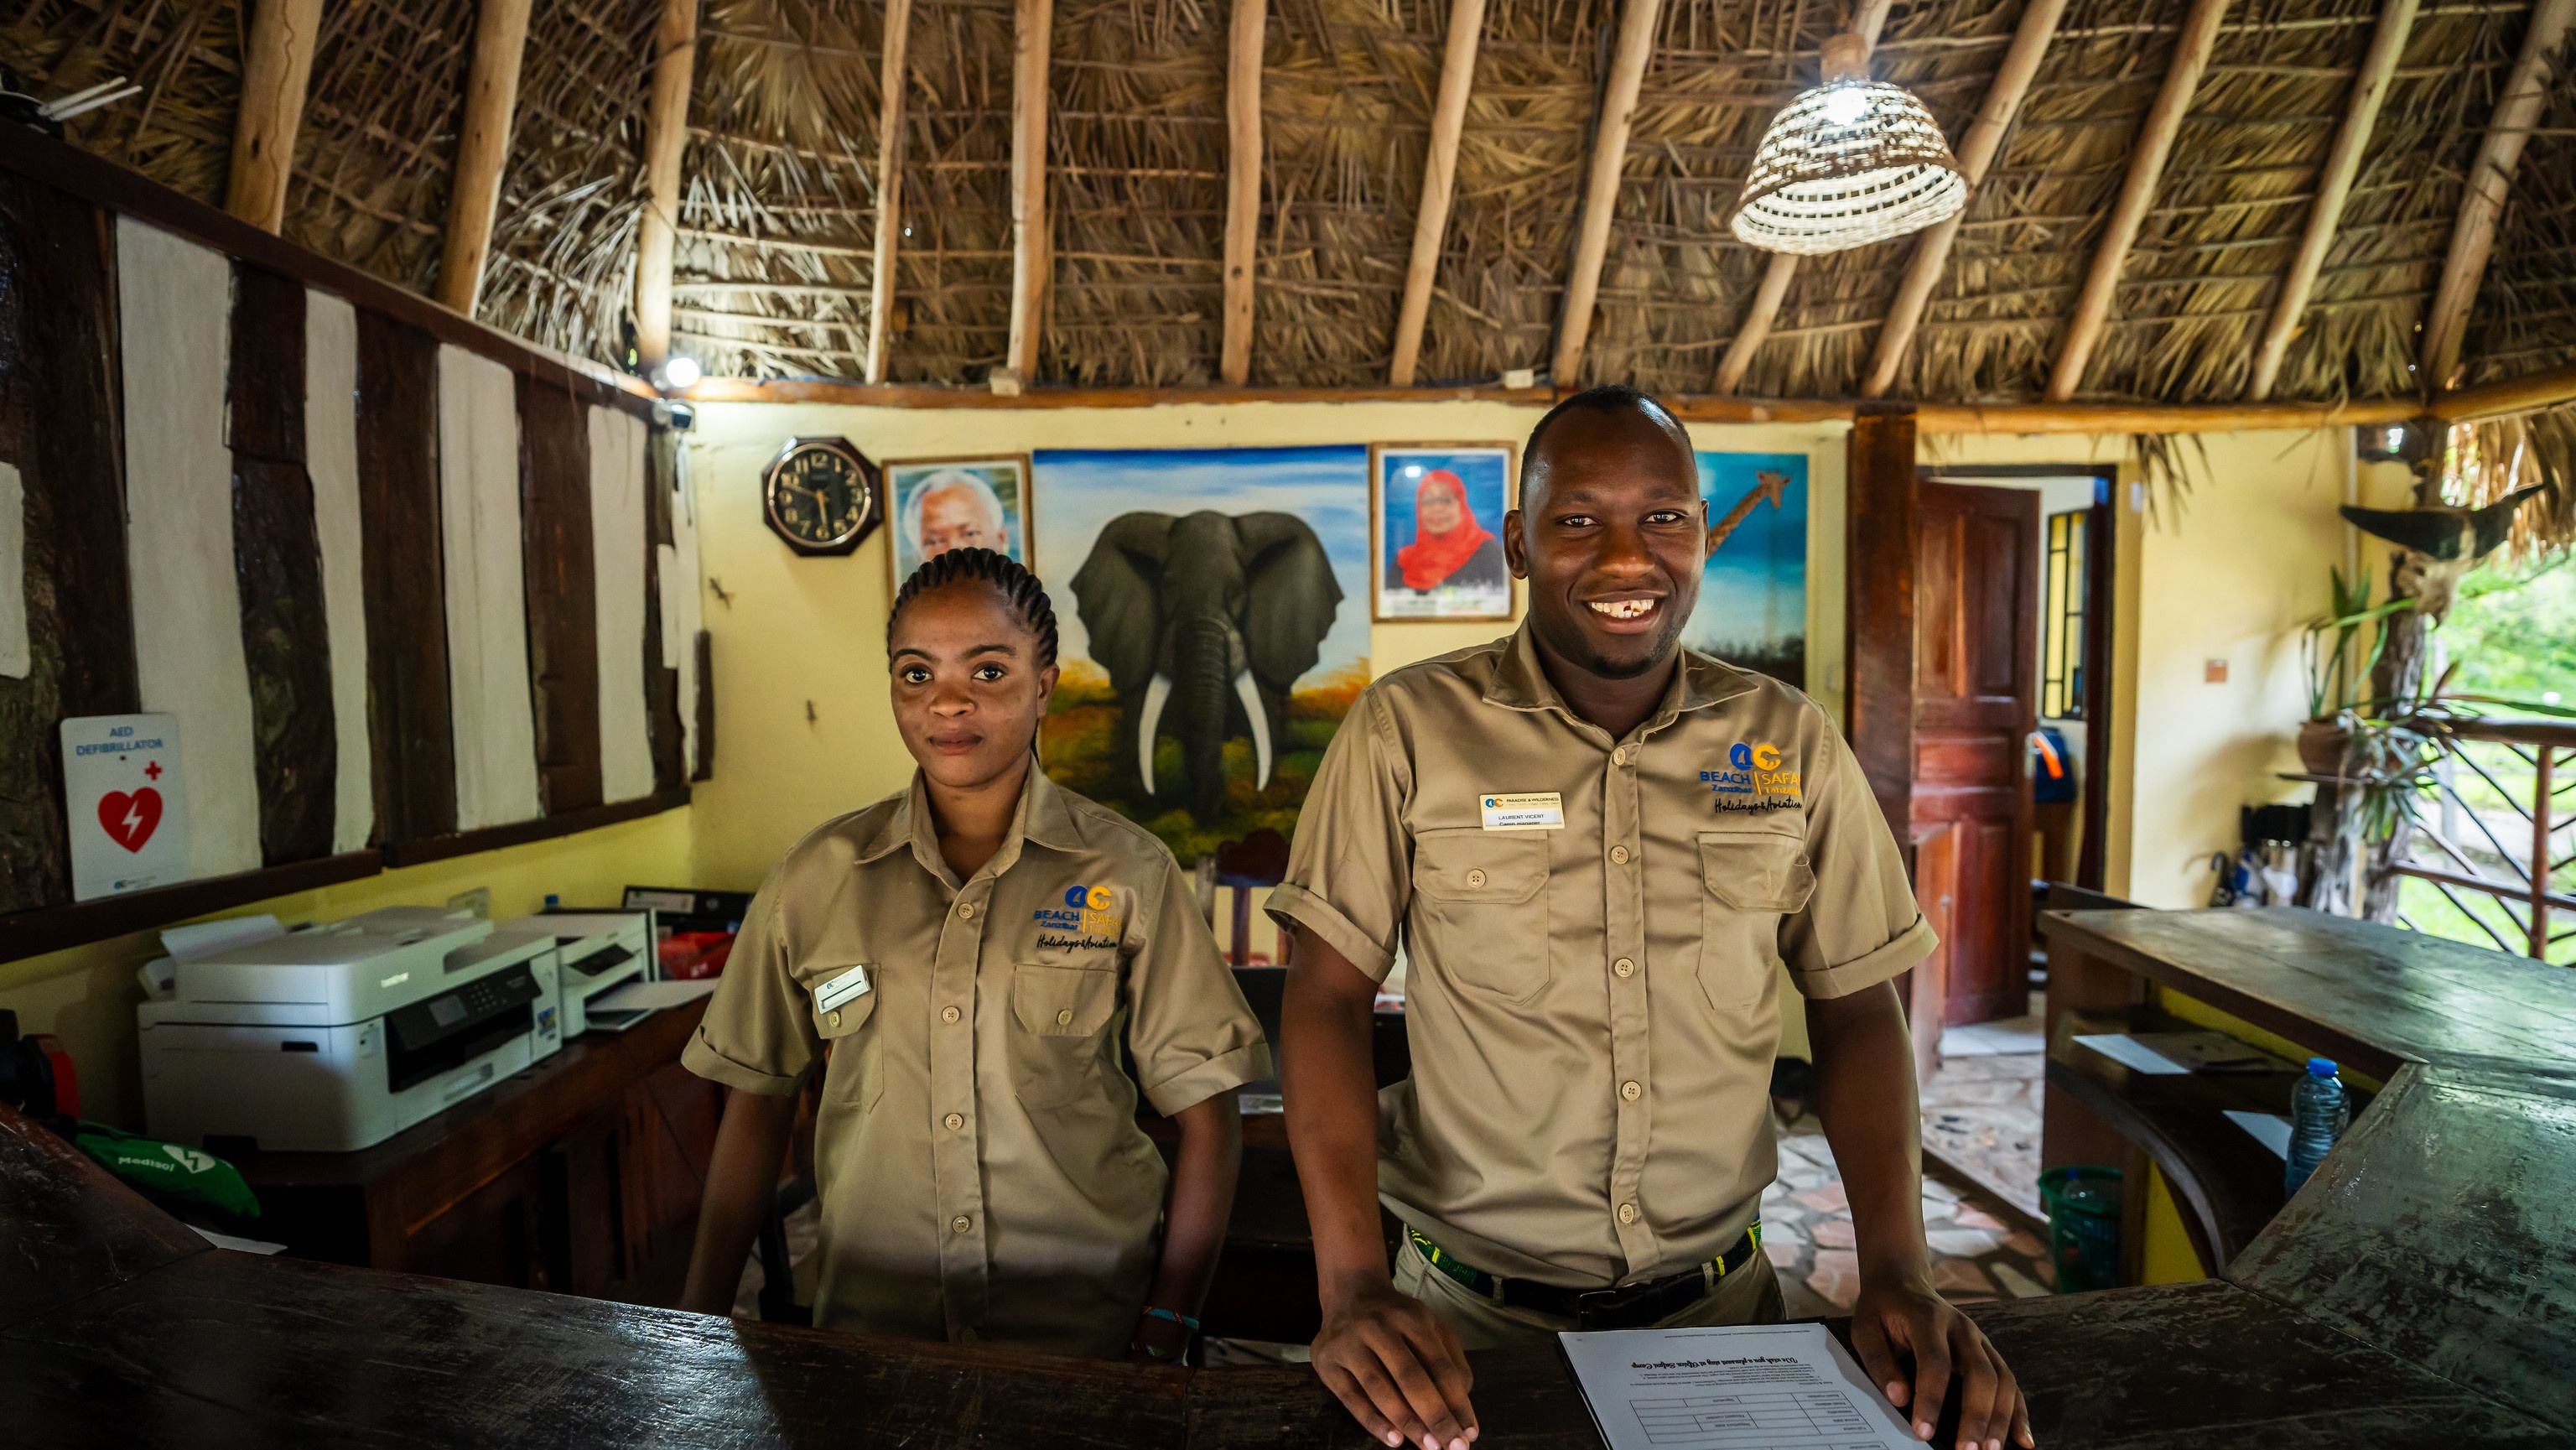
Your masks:
<instances>
[{"instance_id":1,"label":"khaki short-sleeved uniform shirt worn by the smiling man","mask_svg":"<svg viewBox=\"0 0 2576 1450\"><path fill-rule=\"evenodd\" d=\"M1814 701L1685 652L1610 739L1528 626L1358 698L1270 912L1381 981L1404 937L1386 1208L1468 1265L1574 1288L1687 1270L1754 1221L1775 963L1842 997L1935 945Z\"/></svg>"}]
</instances>

